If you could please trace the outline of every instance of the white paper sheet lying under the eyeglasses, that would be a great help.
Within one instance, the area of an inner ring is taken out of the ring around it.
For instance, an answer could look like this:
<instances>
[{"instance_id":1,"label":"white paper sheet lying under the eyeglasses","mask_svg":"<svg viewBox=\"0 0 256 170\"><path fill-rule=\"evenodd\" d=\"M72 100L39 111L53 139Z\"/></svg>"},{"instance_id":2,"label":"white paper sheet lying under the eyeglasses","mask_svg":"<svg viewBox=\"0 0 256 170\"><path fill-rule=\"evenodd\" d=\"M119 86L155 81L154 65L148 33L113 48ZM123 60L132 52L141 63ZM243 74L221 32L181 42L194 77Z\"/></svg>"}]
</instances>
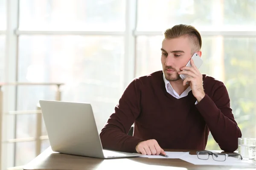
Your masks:
<instances>
[{"instance_id":1,"label":"white paper sheet lying under the eyeglasses","mask_svg":"<svg viewBox=\"0 0 256 170\"><path fill-rule=\"evenodd\" d=\"M225 161L215 161L212 159L212 156L209 156L209 159L202 160L198 159L197 155L189 155L189 153L184 154L183 156L180 156L180 159L183 161L187 161L191 164L195 165L237 165L237 166L245 166L245 165L251 165L256 164L256 161L248 161L248 160L241 160L234 157L227 157Z\"/></svg>"}]
</instances>

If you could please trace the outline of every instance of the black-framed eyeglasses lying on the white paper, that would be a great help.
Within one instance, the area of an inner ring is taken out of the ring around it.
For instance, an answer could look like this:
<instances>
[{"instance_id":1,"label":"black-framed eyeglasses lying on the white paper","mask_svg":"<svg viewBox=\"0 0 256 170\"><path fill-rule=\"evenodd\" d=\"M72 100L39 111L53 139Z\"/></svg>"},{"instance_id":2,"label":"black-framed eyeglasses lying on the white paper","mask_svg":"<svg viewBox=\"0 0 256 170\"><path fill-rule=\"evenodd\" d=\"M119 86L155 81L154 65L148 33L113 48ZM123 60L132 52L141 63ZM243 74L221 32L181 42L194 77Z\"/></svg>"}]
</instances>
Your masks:
<instances>
[{"instance_id":1,"label":"black-framed eyeglasses lying on the white paper","mask_svg":"<svg viewBox=\"0 0 256 170\"><path fill-rule=\"evenodd\" d=\"M197 151L198 159L207 160L209 155L212 155L212 159L215 161L225 161L228 156L240 156L241 160L243 159L239 153L213 153L210 151Z\"/></svg>"}]
</instances>

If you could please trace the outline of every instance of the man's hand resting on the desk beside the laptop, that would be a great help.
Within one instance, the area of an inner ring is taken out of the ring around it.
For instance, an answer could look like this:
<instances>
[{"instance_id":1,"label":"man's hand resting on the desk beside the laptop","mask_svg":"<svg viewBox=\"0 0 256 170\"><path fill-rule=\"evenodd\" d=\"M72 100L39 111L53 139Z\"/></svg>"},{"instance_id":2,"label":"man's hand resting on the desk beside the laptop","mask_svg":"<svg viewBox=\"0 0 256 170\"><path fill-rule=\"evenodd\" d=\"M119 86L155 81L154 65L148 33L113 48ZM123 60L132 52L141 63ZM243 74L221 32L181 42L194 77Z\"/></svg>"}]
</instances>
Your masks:
<instances>
[{"instance_id":1,"label":"man's hand resting on the desk beside the laptop","mask_svg":"<svg viewBox=\"0 0 256 170\"><path fill-rule=\"evenodd\" d=\"M159 155L160 153L166 155L155 139L139 142L136 151L143 155Z\"/></svg>"}]
</instances>

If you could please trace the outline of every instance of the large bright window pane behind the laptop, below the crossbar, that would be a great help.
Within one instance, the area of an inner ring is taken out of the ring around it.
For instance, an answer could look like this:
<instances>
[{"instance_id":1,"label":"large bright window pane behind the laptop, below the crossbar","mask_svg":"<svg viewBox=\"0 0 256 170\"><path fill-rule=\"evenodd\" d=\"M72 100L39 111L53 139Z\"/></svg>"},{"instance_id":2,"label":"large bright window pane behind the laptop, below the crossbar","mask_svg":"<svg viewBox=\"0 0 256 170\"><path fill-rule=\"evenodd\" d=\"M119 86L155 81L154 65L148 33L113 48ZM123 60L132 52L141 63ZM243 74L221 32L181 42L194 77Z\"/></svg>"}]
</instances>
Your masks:
<instances>
[{"instance_id":1,"label":"large bright window pane behind the laptop, below the crossbar","mask_svg":"<svg viewBox=\"0 0 256 170\"><path fill-rule=\"evenodd\" d=\"M65 83L62 100L90 102L101 130L123 91L123 51L118 36L21 35L18 81ZM18 90L19 110L34 110L39 99L55 99L56 87Z\"/></svg>"}]
</instances>

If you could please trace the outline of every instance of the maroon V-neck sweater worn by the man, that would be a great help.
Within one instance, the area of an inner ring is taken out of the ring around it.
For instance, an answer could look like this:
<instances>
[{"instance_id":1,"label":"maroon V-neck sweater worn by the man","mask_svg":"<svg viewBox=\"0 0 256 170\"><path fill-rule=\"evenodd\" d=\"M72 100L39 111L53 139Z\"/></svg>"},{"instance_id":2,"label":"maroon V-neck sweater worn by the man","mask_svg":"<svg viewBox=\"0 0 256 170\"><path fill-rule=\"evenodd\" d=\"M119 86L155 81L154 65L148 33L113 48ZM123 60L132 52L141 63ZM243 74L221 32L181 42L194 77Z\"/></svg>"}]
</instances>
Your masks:
<instances>
[{"instance_id":1,"label":"maroon V-neck sweater worn by the man","mask_svg":"<svg viewBox=\"0 0 256 170\"><path fill-rule=\"evenodd\" d=\"M212 77L203 81L205 96L195 105L192 91L180 99L166 91L162 71L134 79L100 133L103 148L136 152L138 142L156 139L164 149L204 150L210 130L222 150L235 151L241 130L227 89Z\"/></svg>"}]
</instances>

